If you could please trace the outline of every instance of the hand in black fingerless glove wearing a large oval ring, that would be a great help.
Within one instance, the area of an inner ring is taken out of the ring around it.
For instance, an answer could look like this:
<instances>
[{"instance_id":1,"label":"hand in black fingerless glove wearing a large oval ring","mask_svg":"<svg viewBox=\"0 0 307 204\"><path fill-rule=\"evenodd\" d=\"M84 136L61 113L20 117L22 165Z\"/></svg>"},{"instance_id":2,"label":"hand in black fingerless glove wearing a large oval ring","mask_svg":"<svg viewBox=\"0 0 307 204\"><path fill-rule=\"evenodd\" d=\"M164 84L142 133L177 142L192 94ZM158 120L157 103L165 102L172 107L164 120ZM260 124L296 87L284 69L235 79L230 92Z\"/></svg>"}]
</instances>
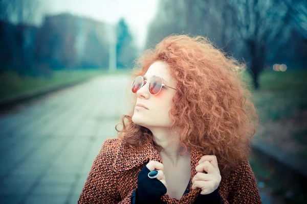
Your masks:
<instances>
[{"instance_id":1,"label":"hand in black fingerless glove wearing a large oval ring","mask_svg":"<svg viewBox=\"0 0 307 204\"><path fill-rule=\"evenodd\" d=\"M150 179L148 173L155 169L159 171L159 175L155 179ZM163 164L157 161L150 161L138 175L137 203L163 203L160 198L166 194L166 188Z\"/></svg>"}]
</instances>

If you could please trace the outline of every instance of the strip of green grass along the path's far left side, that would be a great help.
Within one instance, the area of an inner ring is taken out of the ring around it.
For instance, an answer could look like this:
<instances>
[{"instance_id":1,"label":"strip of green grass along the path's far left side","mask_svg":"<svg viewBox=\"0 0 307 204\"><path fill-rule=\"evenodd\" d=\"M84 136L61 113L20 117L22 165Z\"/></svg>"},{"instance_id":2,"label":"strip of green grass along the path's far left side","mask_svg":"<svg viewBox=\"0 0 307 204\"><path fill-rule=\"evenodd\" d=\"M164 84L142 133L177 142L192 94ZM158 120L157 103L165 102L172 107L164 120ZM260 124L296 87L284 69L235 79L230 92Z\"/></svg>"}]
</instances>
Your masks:
<instances>
[{"instance_id":1,"label":"strip of green grass along the path's far left side","mask_svg":"<svg viewBox=\"0 0 307 204\"><path fill-rule=\"evenodd\" d=\"M51 77L20 77L16 72L4 72L0 75L0 100L17 97L29 92L42 91L60 85L71 84L97 77L102 74L126 74L126 70L109 72L107 70L61 70L53 71Z\"/></svg>"}]
</instances>

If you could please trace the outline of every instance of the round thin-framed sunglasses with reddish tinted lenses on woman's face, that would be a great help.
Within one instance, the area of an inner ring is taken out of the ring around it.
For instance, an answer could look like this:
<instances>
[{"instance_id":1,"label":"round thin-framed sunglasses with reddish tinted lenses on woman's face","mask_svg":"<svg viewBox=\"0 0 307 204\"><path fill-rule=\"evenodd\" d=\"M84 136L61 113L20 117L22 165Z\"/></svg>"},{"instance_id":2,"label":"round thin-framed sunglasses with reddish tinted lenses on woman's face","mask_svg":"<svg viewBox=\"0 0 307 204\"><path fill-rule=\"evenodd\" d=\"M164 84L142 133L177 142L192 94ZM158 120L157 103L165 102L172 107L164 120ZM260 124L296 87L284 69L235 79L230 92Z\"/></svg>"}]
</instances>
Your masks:
<instances>
[{"instance_id":1,"label":"round thin-framed sunglasses with reddish tinted lenses on woman's face","mask_svg":"<svg viewBox=\"0 0 307 204\"><path fill-rule=\"evenodd\" d=\"M144 80L142 76L137 77L131 84L131 91L133 93L137 93L137 91L140 90L145 85L144 82L148 82L148 81ZM161 91L162 87L164 86L166 85L163 84L163 79L161 77L155 76L149 82L148 92L151 95L157 95ZM166 87L171 88L169 86L166 86ZM171 89L174 89L174 88L171 88ZM174 90L177 90L177 89L174 89Z\"/></svg>"}]
</instances>

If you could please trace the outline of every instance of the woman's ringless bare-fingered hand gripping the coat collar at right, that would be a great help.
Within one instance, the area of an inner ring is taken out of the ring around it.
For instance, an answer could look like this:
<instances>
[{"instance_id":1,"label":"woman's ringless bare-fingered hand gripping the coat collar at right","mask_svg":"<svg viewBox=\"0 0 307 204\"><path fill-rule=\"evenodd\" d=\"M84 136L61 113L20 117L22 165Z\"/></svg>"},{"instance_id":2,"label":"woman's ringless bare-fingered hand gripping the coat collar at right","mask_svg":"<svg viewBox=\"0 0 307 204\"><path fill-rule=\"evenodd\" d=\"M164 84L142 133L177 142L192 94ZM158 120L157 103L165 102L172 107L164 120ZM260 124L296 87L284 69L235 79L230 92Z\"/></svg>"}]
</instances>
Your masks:
<instances>
[{"instance_id":1,"label":"woman's ringless bare-fingered hand gripping the coat collar at right","mask_svg":"<svg viewBox=\"0 0 307 204\"><path fill-rule=\"evenodd\" d=\"M222 176L218 168L217 159L214 155L205 155L199 165L195 167L196 174L192 180L192 189L202 189L201 194L212 193L220 185ZM204 173L206 171L207 173Z\"/></svg>"}]
</instances>

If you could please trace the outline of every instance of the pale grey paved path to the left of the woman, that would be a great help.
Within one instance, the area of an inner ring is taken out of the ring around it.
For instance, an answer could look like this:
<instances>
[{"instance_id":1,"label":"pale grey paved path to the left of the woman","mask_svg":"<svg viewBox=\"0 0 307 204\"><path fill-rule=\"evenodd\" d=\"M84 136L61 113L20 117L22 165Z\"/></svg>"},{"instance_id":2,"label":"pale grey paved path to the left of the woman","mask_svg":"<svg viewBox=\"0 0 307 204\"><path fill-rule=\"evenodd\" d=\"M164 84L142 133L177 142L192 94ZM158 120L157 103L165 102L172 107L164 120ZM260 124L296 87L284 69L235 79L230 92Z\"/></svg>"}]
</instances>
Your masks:
<instances>
[{"instance_id":1,"label":"pale grey paved path to the left of the woman","mask_svg":"<svg viewBox=\"0 0 307 204\"><path fill-rule=\"evenodd\" d=\"M77 203L102 142L129 110L129 83L95 78L0 118L0 203Z\"/></svg>"}]
</instances>

